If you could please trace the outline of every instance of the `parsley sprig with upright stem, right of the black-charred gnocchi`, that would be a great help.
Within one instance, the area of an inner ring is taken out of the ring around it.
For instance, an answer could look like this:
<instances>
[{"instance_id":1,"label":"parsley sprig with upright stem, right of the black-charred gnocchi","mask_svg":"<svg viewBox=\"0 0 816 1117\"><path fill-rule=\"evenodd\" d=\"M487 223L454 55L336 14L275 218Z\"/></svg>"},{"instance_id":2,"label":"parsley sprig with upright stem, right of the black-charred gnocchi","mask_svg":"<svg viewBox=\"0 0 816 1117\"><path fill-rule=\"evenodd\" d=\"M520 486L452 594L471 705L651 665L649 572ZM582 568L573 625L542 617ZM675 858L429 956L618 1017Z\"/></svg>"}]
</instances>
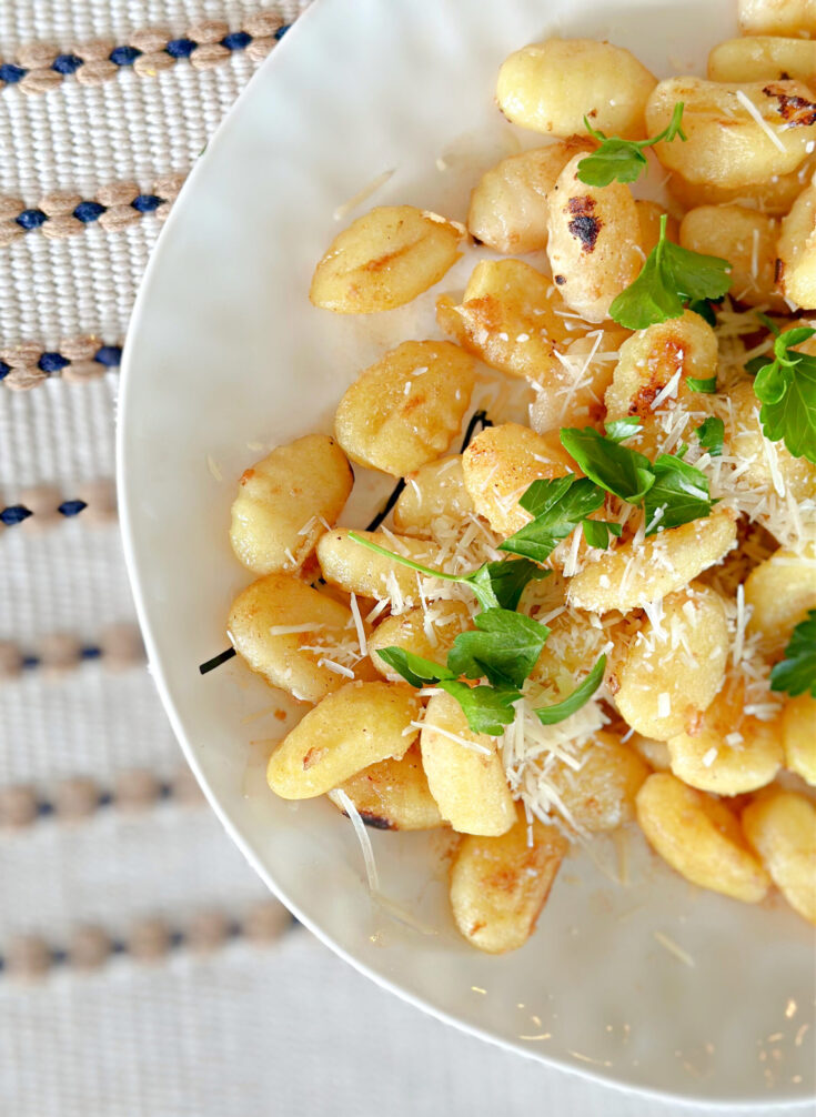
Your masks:
<instances>
[{"instance_id":1,"label":"parsley sprig with upright stem, right of the black-charred gnocchi","mask_svg":"<svg viewBox=\"0 0 816 1117\"><path fill-rule=\"evenodd\" d=\"M609 317L627 330L679 318L687 303L720 298L731 286L731 265L719 256L704 256L666 240L666 216L660 219L660 240L649 254L635 281L615 298Z\"/></svg>"}]
</instances>

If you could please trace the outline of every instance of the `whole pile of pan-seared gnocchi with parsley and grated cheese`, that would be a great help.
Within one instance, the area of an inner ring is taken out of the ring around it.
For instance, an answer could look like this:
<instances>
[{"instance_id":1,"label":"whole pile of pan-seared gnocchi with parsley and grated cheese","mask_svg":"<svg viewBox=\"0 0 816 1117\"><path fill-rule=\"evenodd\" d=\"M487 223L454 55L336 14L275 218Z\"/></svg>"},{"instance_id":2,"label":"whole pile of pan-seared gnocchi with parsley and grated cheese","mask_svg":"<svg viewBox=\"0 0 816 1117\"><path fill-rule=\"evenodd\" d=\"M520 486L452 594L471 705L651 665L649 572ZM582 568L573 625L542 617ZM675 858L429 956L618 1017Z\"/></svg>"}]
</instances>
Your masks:
<instances>
[{"instance_id":1,"label":"whole pile of pan-seared gnocchi with parsley and grated cheese","mask_svg":"<svg viewBox=\"0 0 816 1117\"><path fill-rule=\"evenodd\" d=\"M367 865L364 824L447 828L482 951L524 945L570 843L634 823L816 923L816 6L739 9L705 79L587 39L507 58L530 135L463 220L375 207L311 281L355 315L439 284L434 336L232 505L229 638L305 710L269 786L328 796ZM337 526L361 468L394 499Z\"/></svg>"}]
</instances>

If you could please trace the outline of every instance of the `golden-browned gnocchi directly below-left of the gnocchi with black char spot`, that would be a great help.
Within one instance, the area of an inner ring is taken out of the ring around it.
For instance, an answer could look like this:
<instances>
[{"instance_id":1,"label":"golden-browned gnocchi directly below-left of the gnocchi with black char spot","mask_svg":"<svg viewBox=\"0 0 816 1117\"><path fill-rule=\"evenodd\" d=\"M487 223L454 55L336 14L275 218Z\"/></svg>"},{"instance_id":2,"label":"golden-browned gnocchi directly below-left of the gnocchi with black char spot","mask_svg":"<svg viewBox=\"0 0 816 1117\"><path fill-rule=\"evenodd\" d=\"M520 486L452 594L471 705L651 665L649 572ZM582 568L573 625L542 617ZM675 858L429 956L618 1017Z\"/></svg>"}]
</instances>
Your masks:
<instances>
[{"instance_id":1,"label":"golden-browned gnocchi directly below-left of the gnocchi with black char spot","mask_svg":"<svg viewBox=\"0 0 816 1117\"><path fill-rule=\"evenodd\" d=\"M570 337L559 304L548 277L524 260L482 260L461 304L449 295L436 300L436 321L492 369L538 380Z\"/></svg>"}]
</instances>

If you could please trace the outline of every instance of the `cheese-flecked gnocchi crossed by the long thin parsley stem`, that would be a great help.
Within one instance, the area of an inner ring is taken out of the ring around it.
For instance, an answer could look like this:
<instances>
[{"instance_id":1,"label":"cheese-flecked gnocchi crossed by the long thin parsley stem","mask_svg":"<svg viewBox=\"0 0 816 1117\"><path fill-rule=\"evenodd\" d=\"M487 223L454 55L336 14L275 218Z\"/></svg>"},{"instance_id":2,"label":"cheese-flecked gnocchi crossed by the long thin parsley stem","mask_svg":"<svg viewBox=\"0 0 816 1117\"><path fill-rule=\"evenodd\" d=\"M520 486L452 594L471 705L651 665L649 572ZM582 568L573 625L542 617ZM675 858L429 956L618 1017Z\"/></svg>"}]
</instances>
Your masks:
<instances>
[{"instance_id":1,"label":"cheese-flecked gnocchi crossed by the long thin parsley stem","mask_svg":"<svg viewBox=\"0 0 816 1117\"><path fill-rule=\"evenodd\" d=\"M401 554L423 565L432 566L434 556L439 553L433 543L412 540L406 535L394 535L393 532L356 534L386 551ZM339 585L346 593L358 593L364 598L376 598L380 601L391 598L394 612L403 612L401 605L412 605L419 601L416 573L402 563L393 562L385 555L355 543L349 537L347 528L326 532L321 536L317 544L317 560L326 581Z\"/></svg>"}]
</instances>

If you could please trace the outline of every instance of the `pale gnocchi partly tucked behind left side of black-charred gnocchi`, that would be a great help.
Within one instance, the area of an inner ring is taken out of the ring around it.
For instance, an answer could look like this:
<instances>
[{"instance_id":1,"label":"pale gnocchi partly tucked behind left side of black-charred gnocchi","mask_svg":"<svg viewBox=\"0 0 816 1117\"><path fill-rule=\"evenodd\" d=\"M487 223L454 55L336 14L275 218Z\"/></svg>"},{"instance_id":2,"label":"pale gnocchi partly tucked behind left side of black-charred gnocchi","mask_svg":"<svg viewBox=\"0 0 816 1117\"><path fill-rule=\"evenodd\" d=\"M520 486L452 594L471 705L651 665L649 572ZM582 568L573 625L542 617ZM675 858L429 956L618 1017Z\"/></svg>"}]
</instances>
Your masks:
<instances>
[{"instance_id":1,"label":"pale gnocchi partly tucked behind left side of black-charred gnocchi","mask_svg":"<svg viewBox=\"0 0 816 1117\"><path fill-rule=\"evenodd\" d=\"M565 163L576 152L587 154L588 140L509 155L491 168L470 195L468 231L497 252L535 252L547 244L547 195Z\"/></svg>"}]
</instances>

